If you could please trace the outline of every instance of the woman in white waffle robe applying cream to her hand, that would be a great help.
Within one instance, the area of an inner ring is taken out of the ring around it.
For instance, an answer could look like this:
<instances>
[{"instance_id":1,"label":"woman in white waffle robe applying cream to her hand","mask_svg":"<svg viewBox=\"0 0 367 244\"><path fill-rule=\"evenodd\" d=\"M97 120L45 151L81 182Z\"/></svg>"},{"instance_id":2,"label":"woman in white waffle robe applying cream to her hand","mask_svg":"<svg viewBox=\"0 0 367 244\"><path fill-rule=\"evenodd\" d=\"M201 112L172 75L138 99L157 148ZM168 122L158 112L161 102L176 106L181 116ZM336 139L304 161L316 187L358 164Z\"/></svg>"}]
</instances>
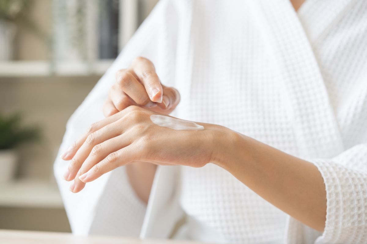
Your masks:
<instances>
[{"instance_id":1,"label":"woman in white waffle robe applying cream to her hand","mask_svg":"<svg viewBox=\"0 0 367 244\"><path fill-rule=\"evenodd\" d=\"M68 122L74 233L366 243L367 2L301 4L156 6Z\"/></svg>"}]
</instances>

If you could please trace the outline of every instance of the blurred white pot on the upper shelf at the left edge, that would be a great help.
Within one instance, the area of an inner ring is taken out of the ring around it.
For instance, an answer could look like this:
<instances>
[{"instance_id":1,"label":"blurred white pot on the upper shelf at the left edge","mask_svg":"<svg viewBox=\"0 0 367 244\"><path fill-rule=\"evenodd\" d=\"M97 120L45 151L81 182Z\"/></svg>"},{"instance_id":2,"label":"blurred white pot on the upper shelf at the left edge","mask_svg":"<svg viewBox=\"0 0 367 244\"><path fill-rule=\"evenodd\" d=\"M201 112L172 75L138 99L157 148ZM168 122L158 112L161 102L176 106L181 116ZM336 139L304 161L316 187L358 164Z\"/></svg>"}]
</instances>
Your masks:
<instances>
[{"instance_id":1,"label":"blurred white pot on the upper shelf at the left edge","mask_svg":"<svg viewBox=\"0 0 367 244\"><path fill-rule=\"evenodd\" d=\"M0 61L14 58L14 42L17 27L14 23L0 19Z\"/></svg>"}]
</instances>

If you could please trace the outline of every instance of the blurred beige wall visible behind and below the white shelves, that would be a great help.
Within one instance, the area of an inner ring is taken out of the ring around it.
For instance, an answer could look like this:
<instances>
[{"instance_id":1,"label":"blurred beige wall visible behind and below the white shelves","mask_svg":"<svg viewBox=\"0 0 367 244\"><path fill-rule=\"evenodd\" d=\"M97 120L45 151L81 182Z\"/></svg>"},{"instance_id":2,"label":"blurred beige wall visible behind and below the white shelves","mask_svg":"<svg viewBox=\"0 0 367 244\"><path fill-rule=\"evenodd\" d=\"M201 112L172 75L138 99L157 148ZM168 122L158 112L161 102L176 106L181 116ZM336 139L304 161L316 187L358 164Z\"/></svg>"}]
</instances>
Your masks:
<instances>
[{"instance_id":1,"label":"blurred beige wall visible behind and below the white shelves","mask_svg":"<svg viewBox=\"0 0 367 244\"><path fill-rule=\"evenodd\" d=\"M139 0L145 18L157 0ZM31 15L51 32L52 0L34 0ZM17 59L47 60L44 43L22 27L17 35ZM43 142L20 150L18 178L43 179L55 185L52 165L66 121L98 81L98 76L5 78L0 76L0 112L22 111L25 124L39 124ZM56 187L56 186L55 186ZM0 206L0 229L70 231L65 210Z\"/></svg>"}]
</instances>

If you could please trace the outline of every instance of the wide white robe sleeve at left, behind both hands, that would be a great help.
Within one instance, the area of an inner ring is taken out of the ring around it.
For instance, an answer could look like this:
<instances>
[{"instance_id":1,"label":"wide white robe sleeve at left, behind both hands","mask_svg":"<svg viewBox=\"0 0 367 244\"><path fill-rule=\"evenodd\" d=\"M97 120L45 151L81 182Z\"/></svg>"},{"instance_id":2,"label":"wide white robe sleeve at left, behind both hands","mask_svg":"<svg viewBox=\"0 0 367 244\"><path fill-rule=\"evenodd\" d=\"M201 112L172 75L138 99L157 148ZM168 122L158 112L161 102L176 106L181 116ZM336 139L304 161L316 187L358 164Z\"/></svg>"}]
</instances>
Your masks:
<instances>
[{"instance_id":1,"label":"wide white robe sleeve at left, behind both hands","mask_svg":"<svg viewBox=\"0 0 367 244\"><path fill-rule=\"evenodd\" d=\"M135 57L152 60L161 82L175 86L178 16L173 0L161 0L66 125L54 174L74 234L139 236L146 206L131 188L125 168L113 170L73 194L69 191L71 183L62 179L69 162L59 156L89 125L104 118L103 102L115 82L116 71L129 67Z\"/></svg>"}]
</instances>

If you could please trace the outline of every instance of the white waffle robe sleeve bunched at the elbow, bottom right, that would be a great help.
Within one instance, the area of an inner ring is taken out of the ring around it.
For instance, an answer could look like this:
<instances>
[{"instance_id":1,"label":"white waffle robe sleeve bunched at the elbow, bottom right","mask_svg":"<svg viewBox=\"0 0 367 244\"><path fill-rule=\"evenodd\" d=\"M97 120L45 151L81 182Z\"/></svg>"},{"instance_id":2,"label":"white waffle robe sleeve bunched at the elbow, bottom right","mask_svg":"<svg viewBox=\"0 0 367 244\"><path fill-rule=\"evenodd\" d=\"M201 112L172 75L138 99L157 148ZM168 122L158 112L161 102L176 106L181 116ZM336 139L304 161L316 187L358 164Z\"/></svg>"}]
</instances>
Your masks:
<instances>
[{"instance_id":1,"label":"white waffle robe sleeve bunched at the elbow, bottom right","mask_svg":"<svg viewBox=\"0 0 367 244\"><path fill-rule=\"evenodd\" d=\"M367 139L365 140L367 142ZM327 210L323 233L290 218L287 243L359 244L367 240L367 143L331 159L308 160L324 179ZM312 237L313 236L313 237Z\"/></svg>"}]
</instances>

